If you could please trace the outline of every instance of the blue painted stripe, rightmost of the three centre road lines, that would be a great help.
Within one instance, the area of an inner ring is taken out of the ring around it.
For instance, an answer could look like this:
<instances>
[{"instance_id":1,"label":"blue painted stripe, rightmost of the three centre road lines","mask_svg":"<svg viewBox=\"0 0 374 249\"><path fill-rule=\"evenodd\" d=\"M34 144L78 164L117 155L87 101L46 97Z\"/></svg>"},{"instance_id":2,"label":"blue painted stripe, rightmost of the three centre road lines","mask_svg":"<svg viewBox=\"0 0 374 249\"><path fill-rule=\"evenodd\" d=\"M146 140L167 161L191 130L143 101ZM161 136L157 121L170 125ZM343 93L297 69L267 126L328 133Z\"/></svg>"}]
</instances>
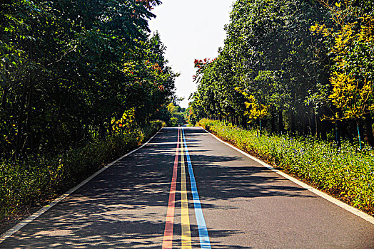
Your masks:
<instances>
[{"instance_id":1,"label":"blue painted stripe, rightmost of the three centre road lines","mask_svg":"<svg viewBox=\"0 0 374 249\"><path fill-rule=\"evenodd\" d=\"M190 175L191 181L191 192L193 198L193 206L195 207L196 222L198 223L198 235L200 237L201 248L211 249L211 241L209 240L208 229L203 215L203 209L201 208L200 198L198 197L198 188L196 186L195 175L193 174L190 154L188 153L186 137L184 137L184 130L182 128L184 149L186 150L188 174Z\"/></svg>"}]
</instances>

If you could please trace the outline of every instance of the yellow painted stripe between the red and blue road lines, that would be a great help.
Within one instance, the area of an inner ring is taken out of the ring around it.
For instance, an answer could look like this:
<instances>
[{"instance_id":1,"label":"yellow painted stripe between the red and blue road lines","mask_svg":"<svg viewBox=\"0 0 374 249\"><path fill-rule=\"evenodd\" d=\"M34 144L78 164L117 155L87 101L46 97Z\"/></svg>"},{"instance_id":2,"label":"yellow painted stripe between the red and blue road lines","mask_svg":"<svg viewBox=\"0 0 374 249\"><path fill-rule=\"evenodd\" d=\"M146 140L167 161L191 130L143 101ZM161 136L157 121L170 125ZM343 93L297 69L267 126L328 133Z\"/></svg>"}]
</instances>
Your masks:
<instances>
[{"instance_id":1,"label":"yellow painted stripe between the red and blue road lines","mask_svg":"<svg viewBox=\"0 0 374 249\"><path fill-rule=\"evenodd\" d=\"M188 199L186 187L186 169L184 164L183 140L181 136L181 216L182 216L182 249L192 248L190 216L188 214Z\"/></svg>"}]
</instances>

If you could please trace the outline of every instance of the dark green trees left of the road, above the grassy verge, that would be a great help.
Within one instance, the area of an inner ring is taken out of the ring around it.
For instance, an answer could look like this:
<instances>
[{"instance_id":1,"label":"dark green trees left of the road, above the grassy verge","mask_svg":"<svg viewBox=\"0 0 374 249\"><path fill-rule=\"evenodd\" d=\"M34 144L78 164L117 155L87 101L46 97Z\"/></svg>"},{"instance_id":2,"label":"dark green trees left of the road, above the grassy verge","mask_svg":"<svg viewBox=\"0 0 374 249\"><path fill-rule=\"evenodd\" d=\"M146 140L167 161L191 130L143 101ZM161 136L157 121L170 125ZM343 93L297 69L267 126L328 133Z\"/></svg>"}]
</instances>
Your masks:
<instances>
[{"instance_id":1,"label":"dark green trees left of the road, above the grassy verge","mask_svg":"<svg viewBox=\"0 0 374 249\"><path fill-rule=\"evenodd\" d=\"M64 152L175 98L148 20L161 1L5 0L0 9L0 154Z\"/></svg>"}]
</instances>

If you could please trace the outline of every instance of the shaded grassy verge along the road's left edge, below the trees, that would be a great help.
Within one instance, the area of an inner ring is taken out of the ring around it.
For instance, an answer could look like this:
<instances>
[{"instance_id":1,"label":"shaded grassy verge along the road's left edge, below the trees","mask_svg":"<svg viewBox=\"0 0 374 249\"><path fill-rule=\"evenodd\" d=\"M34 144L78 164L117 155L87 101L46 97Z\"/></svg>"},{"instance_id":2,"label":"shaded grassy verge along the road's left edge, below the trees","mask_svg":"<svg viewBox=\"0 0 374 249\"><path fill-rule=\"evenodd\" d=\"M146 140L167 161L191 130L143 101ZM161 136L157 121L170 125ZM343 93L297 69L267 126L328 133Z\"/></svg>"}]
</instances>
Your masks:
<instances>
[{"instance_id":1,"label":"shaded grassy verge along the road's left edge, below the trees","mask_svg":"<svg viewBox=\"0 0 374 249\"><path fill-rule=\"evenodd\" d=\"M153 121L143 129L96 139L57 156L34 155L18 162L1 159L0 221L12 213L40 206L75 186L165 125Z\"/></svg>"}]
</instances>

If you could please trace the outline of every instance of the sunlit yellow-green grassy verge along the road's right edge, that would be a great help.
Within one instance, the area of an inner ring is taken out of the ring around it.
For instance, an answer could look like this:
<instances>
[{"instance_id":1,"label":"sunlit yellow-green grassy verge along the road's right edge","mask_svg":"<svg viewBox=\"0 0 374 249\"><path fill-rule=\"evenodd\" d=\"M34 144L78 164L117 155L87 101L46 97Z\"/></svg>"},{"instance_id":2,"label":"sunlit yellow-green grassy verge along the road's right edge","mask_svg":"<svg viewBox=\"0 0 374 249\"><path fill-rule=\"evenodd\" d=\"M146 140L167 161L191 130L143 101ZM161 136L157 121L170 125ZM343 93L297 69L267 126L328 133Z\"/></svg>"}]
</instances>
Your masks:
<instances>
[{"instance_id":1,"label":"sunlit yellow-green grassy verge along the road's right edge","mask_svg":"<svg viewBox=\"0 0 374 249\"><path fill-rule=\"evenodd\" d=\"M343 142L341 147L312 138L243 130L203 119L209 132L239 149L265 159L283 171L309 182L320 190L374 215L374 151Z\"/></svg>"}]
</instances>

